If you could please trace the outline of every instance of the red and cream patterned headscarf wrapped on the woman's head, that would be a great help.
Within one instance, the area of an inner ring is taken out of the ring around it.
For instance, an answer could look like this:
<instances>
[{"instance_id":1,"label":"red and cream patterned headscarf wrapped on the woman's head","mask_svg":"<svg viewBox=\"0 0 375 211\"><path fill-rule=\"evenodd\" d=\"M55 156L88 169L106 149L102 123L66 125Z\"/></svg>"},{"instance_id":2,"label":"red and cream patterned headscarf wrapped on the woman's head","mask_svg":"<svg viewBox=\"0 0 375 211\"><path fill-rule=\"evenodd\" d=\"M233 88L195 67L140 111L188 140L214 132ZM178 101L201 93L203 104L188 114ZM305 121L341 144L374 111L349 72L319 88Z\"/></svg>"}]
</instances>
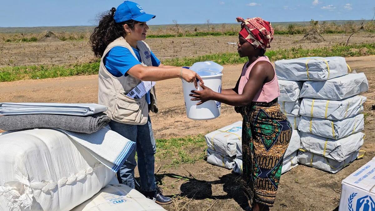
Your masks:
<instances>
[{"instance_id":1,"label":"red and cream patterned headscarf wrapped on the woman's head","mask_svg":"<svg viewBox=\"0 0 375 211\"><path fill-rule=\"evenodd\" d=\"M237 22L241 23L240 35L256 48L266 50L270 47L273 40L273 28L271 23L260 17L243 19L237 18Z\"/></svg>"}]
</instances>

